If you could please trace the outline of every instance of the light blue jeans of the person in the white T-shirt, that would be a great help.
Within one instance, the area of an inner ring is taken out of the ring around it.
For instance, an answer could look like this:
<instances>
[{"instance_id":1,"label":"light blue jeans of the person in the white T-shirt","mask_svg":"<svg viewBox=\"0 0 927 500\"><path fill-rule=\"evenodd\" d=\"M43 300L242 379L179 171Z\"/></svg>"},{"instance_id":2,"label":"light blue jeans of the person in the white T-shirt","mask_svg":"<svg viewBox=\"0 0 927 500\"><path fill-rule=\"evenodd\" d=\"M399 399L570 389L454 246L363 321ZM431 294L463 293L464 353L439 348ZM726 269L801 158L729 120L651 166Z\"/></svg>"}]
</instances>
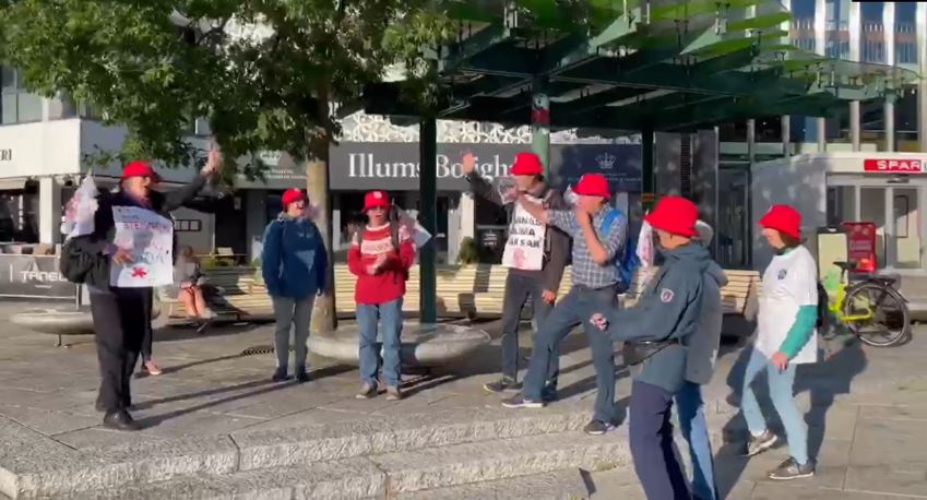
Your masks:
<instances>
[{"instance_id":1,"label":"light blue jeans of the person in the white T-shirt","mask_svg":"<svg viewBox=\"0 0 927 500\"><path fill-rule=\"evenodd\" d=\"M789 364L784 371L779 371L779 368L756 348L750 353L750 360L747 361L747 369L744 373L744 392L740 398L740 409L744 410L747 427L753 436L759 436L766 430L766 421L763 419L757 395L750 388L763 369L766 370L766 378L769 379L770 398L776 413L779 413L783 427L785 427L788 453L799 464L807 464L808 426L805 424L801 414L798 413L798 406L795 404L792 392L792 385L795 383L795 365Z\"/></svg>"}]
</instances>

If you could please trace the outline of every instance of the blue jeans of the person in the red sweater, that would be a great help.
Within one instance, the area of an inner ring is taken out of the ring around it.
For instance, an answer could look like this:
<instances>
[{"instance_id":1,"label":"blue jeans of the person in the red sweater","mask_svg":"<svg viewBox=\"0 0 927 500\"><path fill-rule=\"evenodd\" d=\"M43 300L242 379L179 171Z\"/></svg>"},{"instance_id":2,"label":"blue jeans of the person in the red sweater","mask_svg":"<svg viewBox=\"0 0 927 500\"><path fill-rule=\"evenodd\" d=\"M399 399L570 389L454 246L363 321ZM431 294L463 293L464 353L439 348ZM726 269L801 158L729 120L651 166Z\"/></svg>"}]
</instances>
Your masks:
<instances>
[{"instance_id":1,"label":"blue jeans of the person in the red sweater","mask_svg":"<svg viewBox=\"0 0 927 500\"><path fill-rule=\"evenodd\" d=\"M402 382L400 347L402 346L402 297L384 303L358 303L357 324L360 328L360 379L377 385L380 369L380 343L377 326L383 336L383 379L388 386Z\"/></svg>"}]
</instances>

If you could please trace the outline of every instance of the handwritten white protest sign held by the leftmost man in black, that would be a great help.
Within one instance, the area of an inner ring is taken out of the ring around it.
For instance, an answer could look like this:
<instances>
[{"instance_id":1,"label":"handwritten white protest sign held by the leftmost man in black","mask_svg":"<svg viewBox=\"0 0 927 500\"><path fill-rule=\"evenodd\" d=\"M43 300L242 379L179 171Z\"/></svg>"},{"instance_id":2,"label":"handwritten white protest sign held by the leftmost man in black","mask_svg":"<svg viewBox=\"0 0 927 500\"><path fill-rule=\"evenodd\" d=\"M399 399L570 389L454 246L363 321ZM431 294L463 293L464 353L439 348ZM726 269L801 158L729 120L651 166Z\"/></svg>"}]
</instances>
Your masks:
<instances>
[{"instance_id":1,"label":"handwritten white protest sign held by the leftmost man in black","mask_svg":"<svg viewBox=\"0 0 927 500\"><path fill-rule=\"evenodd\" d=\"M112 263L109 284L123 288L166 286L174 283L174 223L138 206L114 206L112 243L128 249L132 262Z\"/></svg>"}]
</instances>

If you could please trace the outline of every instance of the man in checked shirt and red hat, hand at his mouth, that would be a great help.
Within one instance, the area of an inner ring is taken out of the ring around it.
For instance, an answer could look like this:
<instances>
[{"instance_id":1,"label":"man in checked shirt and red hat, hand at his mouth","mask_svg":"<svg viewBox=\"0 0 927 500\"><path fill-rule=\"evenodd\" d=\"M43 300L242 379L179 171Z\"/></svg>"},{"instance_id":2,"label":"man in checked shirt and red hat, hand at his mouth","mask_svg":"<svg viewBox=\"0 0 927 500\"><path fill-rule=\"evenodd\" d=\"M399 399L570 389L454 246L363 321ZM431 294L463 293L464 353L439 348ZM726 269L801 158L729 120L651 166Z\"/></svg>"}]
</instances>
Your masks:
<instances>
[{"instance_id":1,"label":"man in checked shirt and red hat, hand at his mouth","mask_svg":"<svg viewBox=\"0 0 927 500\"><path fill-rule=\"evenodd\" d=\"M611 338L589 323L594 310L618 307L622 286L616 257L622 255L628 234L628 221L613 216L608 207L611 192L608 180L599 174L586 174L573 190L579 195L573 211L545 210L528 198L519 203L544 224L559 227L573 238L573 287L550 311L540 325L521 395L502 401L509 408L539 408L545 374L558 355L558 345L570 331L582 324L595 367L598 393L592 421L586 433L598 436L615 428L615 346Z\"/></svg>"}]
</instances>

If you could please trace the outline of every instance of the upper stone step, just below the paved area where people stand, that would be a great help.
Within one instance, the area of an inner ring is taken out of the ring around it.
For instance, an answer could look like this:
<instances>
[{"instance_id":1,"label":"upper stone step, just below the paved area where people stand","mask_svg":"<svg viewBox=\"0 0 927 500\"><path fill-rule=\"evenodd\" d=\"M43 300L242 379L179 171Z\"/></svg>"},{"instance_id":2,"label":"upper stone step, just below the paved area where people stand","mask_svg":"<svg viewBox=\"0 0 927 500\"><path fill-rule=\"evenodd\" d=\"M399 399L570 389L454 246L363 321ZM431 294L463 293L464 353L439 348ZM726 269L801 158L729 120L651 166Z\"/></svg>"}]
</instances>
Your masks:
<instances>
[{"instance_id":1,"label":"upper stone step, just below the paved area where people stand","mask_svg":"<svg viewBox=\"0 0 927 500\"><path fill-rule=\"evenodd\" d=\"M0 443L15 439L10 451L14 460L3 462L5 468L0 468L0 492L14 499L45 497L144 485L178 476L226 476L357 456L389 456L435 447L568 432L582 428L589 418L589 406L580 402L544 410L494 407L467 414L431 412L83 450L15 426L0 432ZM24 434L28 434L29 442L23 441Z\"/></svg>"}]
</instances>

